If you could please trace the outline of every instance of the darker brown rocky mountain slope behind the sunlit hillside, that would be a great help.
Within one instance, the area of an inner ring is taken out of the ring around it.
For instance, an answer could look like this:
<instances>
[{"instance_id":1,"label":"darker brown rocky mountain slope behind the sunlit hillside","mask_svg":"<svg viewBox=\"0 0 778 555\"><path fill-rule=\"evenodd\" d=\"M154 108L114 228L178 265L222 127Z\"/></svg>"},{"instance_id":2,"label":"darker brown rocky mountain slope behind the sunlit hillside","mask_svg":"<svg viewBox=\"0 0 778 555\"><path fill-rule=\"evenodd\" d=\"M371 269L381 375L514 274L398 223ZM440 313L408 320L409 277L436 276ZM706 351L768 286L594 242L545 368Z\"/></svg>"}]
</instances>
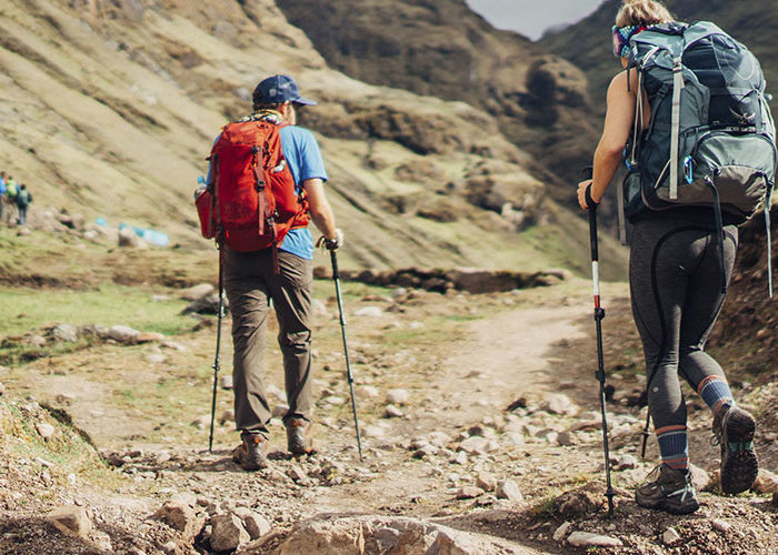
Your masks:
<instances>
[{"instance_id":1,"label":"darker brown rocky mountain slope behind the sunlit hillside","mask_svg":"<svg viewBox=\"0 0 778 555\"><path fill-rule=\"evenodd\" d=\"M418 94L461 100L497 118L536 162L550 194L572 203L570 182L597 129L580 71L529 39L499 31L463 0L279 0L335 68Z\"/></svg>"}]
</instances>

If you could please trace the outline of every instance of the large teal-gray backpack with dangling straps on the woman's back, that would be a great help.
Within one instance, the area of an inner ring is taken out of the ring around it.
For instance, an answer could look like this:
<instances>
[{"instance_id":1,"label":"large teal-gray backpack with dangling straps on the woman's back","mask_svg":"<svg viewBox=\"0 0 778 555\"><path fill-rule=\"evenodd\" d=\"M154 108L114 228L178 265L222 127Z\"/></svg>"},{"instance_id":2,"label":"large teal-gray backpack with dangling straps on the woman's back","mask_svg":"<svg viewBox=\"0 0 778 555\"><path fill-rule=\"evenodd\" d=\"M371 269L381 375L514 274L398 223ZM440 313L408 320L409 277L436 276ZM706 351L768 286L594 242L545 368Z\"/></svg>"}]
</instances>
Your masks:
<instances>
[{"instance_id":1,"label":"large teal-gray backpack with dangling straps on the woman's back","mask_svg":"<svg viewBox=\"0 0 778 555\"><path fill-rule=\"evenodd\" d=\"M630 47L628 71L638 71L639 89L619 212L632 220L648 210L711 208L724 250L721 213L742 223L764 206L770 268L778 151L756 57L706 21L650 27ZM644 93L651 110L646 130ZM771 275L769 287L771 296Z\"/></svg>"}]
</instances>

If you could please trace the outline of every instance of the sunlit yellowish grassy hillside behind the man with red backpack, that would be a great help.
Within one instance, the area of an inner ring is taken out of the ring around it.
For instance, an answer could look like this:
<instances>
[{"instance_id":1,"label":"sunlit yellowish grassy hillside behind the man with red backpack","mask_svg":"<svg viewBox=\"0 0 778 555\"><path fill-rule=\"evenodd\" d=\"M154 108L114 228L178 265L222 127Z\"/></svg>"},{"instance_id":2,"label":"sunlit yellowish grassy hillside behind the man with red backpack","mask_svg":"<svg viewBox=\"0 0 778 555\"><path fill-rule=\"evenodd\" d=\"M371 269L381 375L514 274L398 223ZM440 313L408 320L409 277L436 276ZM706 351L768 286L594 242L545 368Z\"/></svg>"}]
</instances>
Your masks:
<instances>
[{"instance_id":1,"label":"sunlit yellowish grassy hillside behind the man with red backpack","mask_svg":"<svg viewBox=\"0 0 778 555\"><path fill-rule=\"evenodd\" d=\"M28 184L33 211L152 226L211 260L191 203L197 175L220 125L250 110L256 82L286 72L320 101L301 120L328 163L346 265L584 262L559 225L548 249L517 234L551 209L531 154L495 118L330 70L271 0L9 0L0 69L0 168ZM7 258L10 279L30 265L23 252ZM611 260L620 275L624 256Z\"/></svg>"}]
</instances>

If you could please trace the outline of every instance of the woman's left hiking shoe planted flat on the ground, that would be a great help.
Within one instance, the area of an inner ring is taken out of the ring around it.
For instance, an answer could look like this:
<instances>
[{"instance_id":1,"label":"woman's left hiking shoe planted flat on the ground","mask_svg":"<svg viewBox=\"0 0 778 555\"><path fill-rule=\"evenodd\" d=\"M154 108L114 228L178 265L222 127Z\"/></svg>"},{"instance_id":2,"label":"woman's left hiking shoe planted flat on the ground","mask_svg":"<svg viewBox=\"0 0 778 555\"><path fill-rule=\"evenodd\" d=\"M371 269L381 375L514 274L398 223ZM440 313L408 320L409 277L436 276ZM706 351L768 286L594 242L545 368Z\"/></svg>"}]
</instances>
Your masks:
<instances>
[{"instance_id":1,"label":"woman's left hiking shoe planted flat on the ground","mask_svg":"<svg viewBox=\"0 0 778 555\"><path fill-rule=\"evenodd\" d=\"M661 464L654 468L646 483L635 492L635 501L641 507L688 515L699 508L691 473Z\"/></svg>"}]
</instances>

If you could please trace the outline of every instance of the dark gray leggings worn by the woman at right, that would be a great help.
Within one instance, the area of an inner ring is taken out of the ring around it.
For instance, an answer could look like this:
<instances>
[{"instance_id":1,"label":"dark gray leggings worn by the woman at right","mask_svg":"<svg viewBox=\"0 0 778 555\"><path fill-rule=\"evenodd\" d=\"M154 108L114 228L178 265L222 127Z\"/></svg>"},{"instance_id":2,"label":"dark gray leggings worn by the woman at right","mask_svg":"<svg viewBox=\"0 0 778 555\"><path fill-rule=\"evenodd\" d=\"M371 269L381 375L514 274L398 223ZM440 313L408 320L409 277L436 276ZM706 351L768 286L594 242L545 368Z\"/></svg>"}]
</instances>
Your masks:
<instances>
[{"instance_id":1,"label":"dark gray leggings worn by the woman at right","mask_svg":"<svg viewBox=\"0 0 778 555\"><path fill-rule=\"evenodd\" d=\"M738 230L725 225L724 231L729 283ZM712 225L668 214L649 216L635 225L629 286L646 354L655 428L686 425L679 373L695 391L707 376L724 376L721 366L705 352L725 300L719 258Z\"/></svg>"}]
</instances>

